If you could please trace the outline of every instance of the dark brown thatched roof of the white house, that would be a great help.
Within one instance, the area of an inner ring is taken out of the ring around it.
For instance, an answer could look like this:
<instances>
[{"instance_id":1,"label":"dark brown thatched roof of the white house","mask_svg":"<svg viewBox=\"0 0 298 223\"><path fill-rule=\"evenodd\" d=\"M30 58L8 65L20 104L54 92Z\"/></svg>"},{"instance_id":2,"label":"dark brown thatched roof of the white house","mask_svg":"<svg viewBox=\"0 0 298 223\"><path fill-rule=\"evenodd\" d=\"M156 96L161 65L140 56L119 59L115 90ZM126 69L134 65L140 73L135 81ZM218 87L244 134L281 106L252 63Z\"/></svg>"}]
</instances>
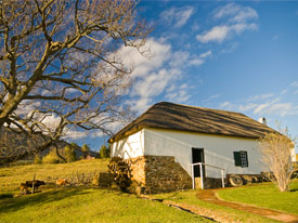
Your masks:
<instances>
[{"instance_id":1,"label":"dark brown thatched roof of the white house","mask_svg":"<svg viewBox=\"0 0 298 223\"><path fill-rule=\"evenodd\" d=\"M143 128L191 131L258 139L275 130L241 114L160 102L150 107L108 142L115 142Z\"/></svg>"}]
</instances>

